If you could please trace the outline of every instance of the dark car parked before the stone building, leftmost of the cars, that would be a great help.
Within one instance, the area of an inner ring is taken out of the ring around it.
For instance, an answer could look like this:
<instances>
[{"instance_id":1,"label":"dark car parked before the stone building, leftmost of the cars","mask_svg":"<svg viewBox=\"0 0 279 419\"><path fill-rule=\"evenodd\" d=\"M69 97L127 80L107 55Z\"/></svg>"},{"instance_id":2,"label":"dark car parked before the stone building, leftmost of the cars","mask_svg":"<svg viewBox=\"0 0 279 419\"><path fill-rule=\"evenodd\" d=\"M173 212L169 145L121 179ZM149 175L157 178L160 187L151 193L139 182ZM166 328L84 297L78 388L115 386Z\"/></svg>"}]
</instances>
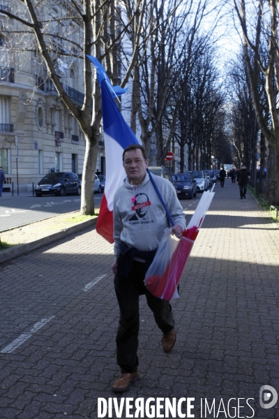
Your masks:
<instances>
[{"instance_id":1,"label":"dark car parked before the stone building, leftmost of the cars","mask_svg":"<svg viewBox=\"0 0 279 419\"><path fill-rule=\"evenodd\" d=\"M82 186L80 179L72 172L55 172L45 175L35 188L36 196L54 195L64 196L66 193L80 195Z\"/></svg>"}]
</instances>

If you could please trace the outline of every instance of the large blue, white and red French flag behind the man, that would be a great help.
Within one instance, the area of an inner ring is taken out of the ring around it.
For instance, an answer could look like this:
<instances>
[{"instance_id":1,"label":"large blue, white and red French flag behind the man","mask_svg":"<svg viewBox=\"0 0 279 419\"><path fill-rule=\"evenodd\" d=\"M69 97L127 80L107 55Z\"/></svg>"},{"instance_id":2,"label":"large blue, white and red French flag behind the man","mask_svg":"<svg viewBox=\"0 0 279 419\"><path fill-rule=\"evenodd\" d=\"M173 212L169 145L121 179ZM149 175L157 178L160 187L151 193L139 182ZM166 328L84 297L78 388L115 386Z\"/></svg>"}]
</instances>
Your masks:
<instances>
[{"instance_id":1,"label":"large blue, white and red French flag behind the man","mask_svg":"<svg viewBox=\"0 0 279 419\"><path fill-rule=\"evenodd\" d=\"M139 144L130 126L126 124L116 105L116 96L126 93L127 89L112 86L105 68L98 59L87 55L96 66L98 82L101 88L103 130L105 140L105 191L100 203L100 212L96 224L97 233L110 243L113 237L113 200L116 189L123 184L126 172L122 164L123 150L130 144Z\"/></svg>"}]
</instances>

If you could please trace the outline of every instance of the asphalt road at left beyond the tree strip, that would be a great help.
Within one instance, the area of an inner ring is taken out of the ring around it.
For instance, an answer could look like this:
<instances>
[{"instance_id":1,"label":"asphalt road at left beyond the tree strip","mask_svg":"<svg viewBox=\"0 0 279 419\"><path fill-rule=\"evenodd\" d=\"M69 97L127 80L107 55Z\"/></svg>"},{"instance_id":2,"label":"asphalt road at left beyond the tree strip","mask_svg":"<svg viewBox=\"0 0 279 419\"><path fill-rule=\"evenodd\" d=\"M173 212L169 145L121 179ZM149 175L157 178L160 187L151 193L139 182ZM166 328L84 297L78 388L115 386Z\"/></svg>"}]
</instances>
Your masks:
<instances>
[{"instance_id":1,"label":"asphalt road at left beyond the tree strip","mask_svg":"<svg viewBox=\"0 0 279 419\"><path fill-rule=\"evenodd\" d=\"M95 193L96 207L100 205L102 196L103 193ZM80 196L75 195L3 196L0 199L0 231L80 209Z\"/></svg>"}]
</instances>

